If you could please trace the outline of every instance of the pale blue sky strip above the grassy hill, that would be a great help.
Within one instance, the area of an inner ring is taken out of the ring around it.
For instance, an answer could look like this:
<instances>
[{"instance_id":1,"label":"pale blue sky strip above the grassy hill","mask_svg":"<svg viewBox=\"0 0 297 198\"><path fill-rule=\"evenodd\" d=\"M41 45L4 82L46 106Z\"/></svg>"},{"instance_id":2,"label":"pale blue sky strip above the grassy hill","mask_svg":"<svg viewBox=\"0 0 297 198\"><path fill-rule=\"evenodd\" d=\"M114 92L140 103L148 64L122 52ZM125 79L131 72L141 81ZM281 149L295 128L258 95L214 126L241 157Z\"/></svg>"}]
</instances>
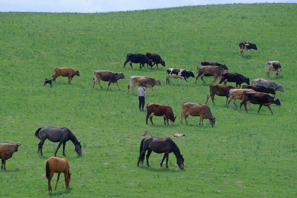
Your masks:
<instances>
[{"instance_id":1,"label":"pale blue sky strip above the grassy hill","mask_svg":"<svg viewBox=\"0 0 297 198\"><path fill-rule=\"evenodd\" d=\"M110 12L185 5L290 2L297 0L0 0L0 11Z\"/></svg>"}]
</instances>

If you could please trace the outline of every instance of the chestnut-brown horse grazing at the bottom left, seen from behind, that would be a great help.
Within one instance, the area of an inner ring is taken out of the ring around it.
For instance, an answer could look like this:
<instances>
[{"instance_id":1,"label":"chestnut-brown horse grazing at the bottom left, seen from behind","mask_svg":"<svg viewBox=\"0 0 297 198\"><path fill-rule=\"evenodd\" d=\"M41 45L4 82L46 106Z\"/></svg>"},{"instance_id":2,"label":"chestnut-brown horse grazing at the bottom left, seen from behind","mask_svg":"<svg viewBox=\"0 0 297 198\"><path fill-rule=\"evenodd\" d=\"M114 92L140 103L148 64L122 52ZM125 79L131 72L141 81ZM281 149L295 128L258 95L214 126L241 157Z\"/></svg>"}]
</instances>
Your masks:
<instances>
[{"instance_id":1,"label":"chestnut-brown horse grazing at the bottom left, seen from behind","mask_svg":"<svg viewBox=\"0 0 297 198\"><path fill-rule=\"evenodd\" d=\"M48 179L49 192L51 192L50 180L53 177L53 173L58 173L57 181L54 185L54 191L57 188L57 183L59 181L61 173L64 173L65 188L68 189L70 178L71 178L71 173L69 169L70 169L69 162L66 158L50 157L46 161L46 177Z\"/></svg>"}]
</instances>

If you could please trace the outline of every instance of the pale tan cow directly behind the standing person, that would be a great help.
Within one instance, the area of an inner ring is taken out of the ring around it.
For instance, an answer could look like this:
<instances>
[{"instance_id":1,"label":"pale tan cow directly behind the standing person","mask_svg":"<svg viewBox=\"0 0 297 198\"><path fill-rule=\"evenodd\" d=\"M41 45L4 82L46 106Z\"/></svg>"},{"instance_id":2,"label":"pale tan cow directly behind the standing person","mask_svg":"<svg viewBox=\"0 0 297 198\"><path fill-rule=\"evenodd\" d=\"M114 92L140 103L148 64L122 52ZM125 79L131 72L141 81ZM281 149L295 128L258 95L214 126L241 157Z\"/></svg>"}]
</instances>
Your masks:
<instances>
[{"instance_id":1,"label":"pale tan cow directly behind the standing person","mask_svg":"<svg viewBox=\"0 0 297 198\"><path fill-rule=\"evenodd\" d=\"M144 84L144 87L148 87L151 89L152 95L153 93L153 86L158 85L162 87L161 82L159 79L154 79L148 76L130 76L129 78L129 85L128 85L128 93L130 93L130 89L132 89L132 93L134 94L134 88L136 85L140 85L140 83Z\"/></svg>"}]
</instances>

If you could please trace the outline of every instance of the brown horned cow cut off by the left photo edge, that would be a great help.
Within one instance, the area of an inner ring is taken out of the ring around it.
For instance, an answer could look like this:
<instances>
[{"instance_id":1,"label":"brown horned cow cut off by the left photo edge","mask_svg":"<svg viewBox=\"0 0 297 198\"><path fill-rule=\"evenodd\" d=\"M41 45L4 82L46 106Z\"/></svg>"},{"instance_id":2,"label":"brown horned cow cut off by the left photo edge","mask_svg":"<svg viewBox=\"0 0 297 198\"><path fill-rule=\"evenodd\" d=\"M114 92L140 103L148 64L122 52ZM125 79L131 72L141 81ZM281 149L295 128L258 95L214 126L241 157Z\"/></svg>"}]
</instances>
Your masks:
<instances>
[{"instance_id":1,"label":"brown horned cow cut off by the left photo edge","mask_svg":"<svg viewBox=\"0 0 297 198\"><path fill-rule=\"evenodd\" d=\"M1 159L1 169L6 170L5 163L6 159L10 159L12 154L18 151L18 147L21 146L20 143L0 143L0 159Z\"/></svg>"}]
</instances>

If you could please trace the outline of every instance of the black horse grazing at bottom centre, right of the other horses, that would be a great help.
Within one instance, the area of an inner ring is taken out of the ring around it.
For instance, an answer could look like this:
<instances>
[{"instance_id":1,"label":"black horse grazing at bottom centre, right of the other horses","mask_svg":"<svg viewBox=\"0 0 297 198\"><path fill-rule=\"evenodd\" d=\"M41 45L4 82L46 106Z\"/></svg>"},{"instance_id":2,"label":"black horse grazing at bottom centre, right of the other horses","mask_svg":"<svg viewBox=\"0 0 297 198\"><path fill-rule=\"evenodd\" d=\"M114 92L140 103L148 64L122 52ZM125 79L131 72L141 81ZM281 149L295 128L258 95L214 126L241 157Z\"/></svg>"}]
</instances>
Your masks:
<instances>
[{"instance_id":1,"label":"black horse grazing at bottom centre, right of the other horses","mask_svg":"<svg viewBox=\"0 0 297 198\"><path fill-rule=\"evenodd\" d=\"M164 153L163 159L160 163L161 167L162 167L163 161L166 157L166 168L169 168L168 167L168 157L169 157L169 153L171 153L171 152L173 152L175 154L176 163L179 166L179 168L184 169L184 167L185 167L183 155L181 154L177 145L170 138L158 138L158 137L152 137L152 136L144 138L140 144L140 150L139 150L140 154L139 154L137 166L139 166L139 163L144 162L147 150L148 150L147 166L149 166L148 157L149 157L151 151L154 151L156 153Z\"/></svg>"}]
</instances>

